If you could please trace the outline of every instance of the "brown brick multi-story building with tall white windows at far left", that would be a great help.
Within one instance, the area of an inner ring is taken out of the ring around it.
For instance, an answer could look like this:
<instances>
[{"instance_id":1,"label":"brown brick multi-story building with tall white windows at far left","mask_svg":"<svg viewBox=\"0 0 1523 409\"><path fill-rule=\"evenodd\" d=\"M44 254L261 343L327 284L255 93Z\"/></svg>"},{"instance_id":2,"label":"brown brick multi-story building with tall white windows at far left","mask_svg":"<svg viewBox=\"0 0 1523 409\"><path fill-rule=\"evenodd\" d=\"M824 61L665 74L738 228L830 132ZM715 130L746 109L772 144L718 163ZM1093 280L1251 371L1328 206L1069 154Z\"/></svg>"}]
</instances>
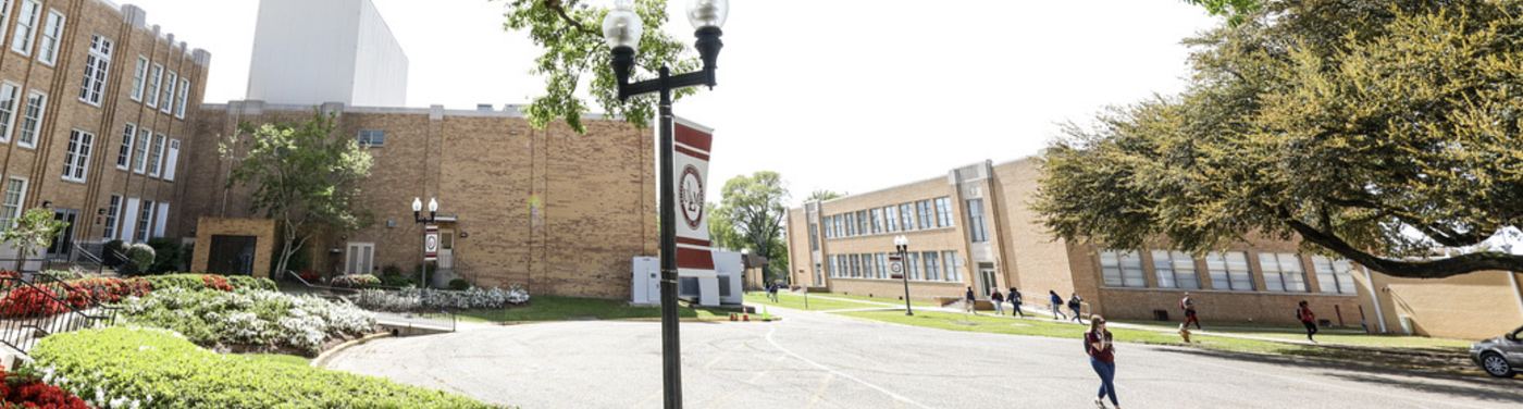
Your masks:
<instances>
[{"instance_id":1,"label":"brown brick multi-story building with tall white windows at far left","mask_svg":"<svg viewBox=\"0 0 1523 409\"><path fill-rule=\"evenodd\" d=\"M50 257L177 222L210 53L145 21L104 0L0 0L0 225L50 207L70 224Z\"/></svg>"}]
</instances>

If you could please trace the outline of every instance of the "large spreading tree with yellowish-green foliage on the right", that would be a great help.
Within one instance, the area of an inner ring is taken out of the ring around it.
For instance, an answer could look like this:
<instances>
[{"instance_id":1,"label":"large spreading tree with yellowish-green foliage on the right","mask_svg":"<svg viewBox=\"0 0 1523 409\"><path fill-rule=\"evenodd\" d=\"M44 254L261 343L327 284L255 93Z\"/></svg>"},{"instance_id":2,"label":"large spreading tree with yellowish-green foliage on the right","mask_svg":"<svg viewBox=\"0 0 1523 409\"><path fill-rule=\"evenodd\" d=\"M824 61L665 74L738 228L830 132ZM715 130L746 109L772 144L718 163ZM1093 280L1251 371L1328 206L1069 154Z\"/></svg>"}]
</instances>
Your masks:
<instances>
[{"instance_id":1,"label":"large spreading tree with yellowish-green foliage on the right","mask_svg":"<svg viewBox=\"0 0 1523 409\"><path fill-rule=\"evenodd\" d=\"M1069 125L1033 208L1057 237L1196 254L1302 240L1394 277L1523 271L1523 2L1272 2L1189 40L1179 96Z\"/></svg>"}]
</instances>

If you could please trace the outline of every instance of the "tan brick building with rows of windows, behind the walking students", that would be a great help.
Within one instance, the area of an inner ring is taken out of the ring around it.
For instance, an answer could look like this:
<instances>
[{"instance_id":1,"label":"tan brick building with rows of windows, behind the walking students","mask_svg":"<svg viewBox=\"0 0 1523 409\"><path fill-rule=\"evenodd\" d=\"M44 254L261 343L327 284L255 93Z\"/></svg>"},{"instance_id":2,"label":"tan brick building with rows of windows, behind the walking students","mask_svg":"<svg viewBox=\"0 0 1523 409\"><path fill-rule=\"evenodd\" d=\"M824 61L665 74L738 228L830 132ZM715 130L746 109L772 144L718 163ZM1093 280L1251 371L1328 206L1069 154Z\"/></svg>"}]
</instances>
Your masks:
<instances>
[{"instance_id":1,"label":"tan brick building with rows of windows, behind the walking students","mask_svg":"<svg viewBox=\"0 0 1523 409\"><path fill-rule=\"evenodd\" d=\"M1359 325L1363 309L1357 266L1298 255L1296 243L1253 240L1193 257L1164 245L1141 252L1104 251L1054 240L1028 208L1037 161L978 163L944 178L806 202L786 217L793 283L832 292L903 296L889 278L892 237L909 239L909 296L979 298L1017 287L1027 307L1045 307L1048 290L1078 293L1092 313L1116 319L1179 319L1191 292L1200 318L1217 322L1293 324L1301 300L1334 325ZM1371 312L1372 313L1372 312ZM1374 316L1371 316L1374 319Z\"/></svg>"}]
</instances>

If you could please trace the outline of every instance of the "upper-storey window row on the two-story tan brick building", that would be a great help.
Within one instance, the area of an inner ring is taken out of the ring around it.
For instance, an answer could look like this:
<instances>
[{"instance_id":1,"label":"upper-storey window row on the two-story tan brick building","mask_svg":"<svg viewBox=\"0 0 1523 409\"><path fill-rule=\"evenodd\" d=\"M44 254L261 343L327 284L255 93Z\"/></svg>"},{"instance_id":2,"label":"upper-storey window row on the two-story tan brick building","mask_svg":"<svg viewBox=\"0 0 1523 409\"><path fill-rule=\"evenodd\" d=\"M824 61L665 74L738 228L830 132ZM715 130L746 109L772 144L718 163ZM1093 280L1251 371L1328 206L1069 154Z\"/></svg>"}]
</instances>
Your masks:
<instances>
[{"instance_id":1,"label":"upper-storey window row on the two-story tan brick building","mask_svg":"<svg viewBox=\"0 0 1523 409\"><path fill-rule=\"evenodd\" d=\"M824 222L825 239L952 227L952 199L937 198L914 205L899 204L833 214L825 216ZM809 231L809 237L813 239L818 227L810 224ZM810 240L810 248L819 249L819 245Z\"/></svg>"}]
</instances>

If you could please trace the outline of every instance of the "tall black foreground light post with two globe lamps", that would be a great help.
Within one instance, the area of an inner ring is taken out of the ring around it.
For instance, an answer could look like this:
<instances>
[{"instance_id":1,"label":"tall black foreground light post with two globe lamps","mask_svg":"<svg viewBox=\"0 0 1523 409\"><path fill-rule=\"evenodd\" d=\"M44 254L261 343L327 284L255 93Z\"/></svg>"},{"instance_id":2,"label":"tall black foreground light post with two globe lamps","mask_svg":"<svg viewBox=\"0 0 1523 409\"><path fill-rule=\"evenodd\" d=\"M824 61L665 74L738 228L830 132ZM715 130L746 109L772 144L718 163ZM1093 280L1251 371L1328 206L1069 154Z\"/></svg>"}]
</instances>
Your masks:
<instances>
[{"instance_id":1,"label":"tall black foreground light post with two globe lamps","mask_svg":"<svg viewBox=\"0 0 1523 409\"><path fill-rule=\"evenodd\" d=\"M676 195L672 182L672 91L687 87L714 87L714 61L719 59L719 49L723 33L719 27L725 24L730 14L728 0L691 0L687 5L687 18L693 23L698 36L698 53L704 59L704 70L685 75L672 75L672 70L661 67L659 76L635 84L629 84L629 75L635 68L635 47L640 46L643 23L634 11L632 0L614 2L614 11L603 18L603 38L612 49L614 76L618 78L618 99L627 100L632 96L658 93L661 129L661 360L663 360L663 392L666 409L682 407L682 345L678 338L676 316Z\"/></svg>"}]
</instances>

